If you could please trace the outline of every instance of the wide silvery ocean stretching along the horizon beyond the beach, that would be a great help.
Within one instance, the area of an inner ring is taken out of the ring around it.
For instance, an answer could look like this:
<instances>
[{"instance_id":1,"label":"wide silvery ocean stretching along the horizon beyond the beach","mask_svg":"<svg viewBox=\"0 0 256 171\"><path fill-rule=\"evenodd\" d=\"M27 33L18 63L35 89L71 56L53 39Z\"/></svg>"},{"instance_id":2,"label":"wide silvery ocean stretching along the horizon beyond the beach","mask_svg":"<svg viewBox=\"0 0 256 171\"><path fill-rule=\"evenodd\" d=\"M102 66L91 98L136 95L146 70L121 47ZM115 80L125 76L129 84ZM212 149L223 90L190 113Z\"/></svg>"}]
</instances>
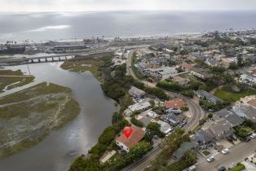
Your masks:
<instances>
[{"instance_id":1,"label":"wide silvery ocean stretching along the horizon beyond the beach","mask_svg":"<svg viewBox=\"0 0 256 171\"><path fill-rule=\"evenodd\" d=\"M256 11L126 11L0 15L0 42L168 35L256 28Z\"/></svg>"}]
</instances>

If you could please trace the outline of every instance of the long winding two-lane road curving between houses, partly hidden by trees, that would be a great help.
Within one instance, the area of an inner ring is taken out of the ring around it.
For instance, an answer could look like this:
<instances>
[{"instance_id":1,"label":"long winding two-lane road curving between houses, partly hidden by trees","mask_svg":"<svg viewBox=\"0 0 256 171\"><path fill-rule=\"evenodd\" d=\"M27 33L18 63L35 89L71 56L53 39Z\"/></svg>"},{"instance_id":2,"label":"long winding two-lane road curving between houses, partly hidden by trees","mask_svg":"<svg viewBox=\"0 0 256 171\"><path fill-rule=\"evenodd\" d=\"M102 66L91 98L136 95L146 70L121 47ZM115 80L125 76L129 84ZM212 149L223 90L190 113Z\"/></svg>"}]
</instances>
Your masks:
<instances>
[{"instance_id":1,"label":"long winding two-lane road curving between houses, partly hidden by trees","mask_svg":"<svg viewBox=\"0 0 256 171\"><path fill-rule=\"evenodd\" d=\"M133 70L130 68L131 66L131 58L135 50L130 50L127 55L127 61L126 61L126 68L127 68L127 75L131 75L136 80L139 80L138 77L136 77ZM155 84L152 84L151 82L143 81L148 86L156 87ZM184 126L184 129L186 129L186 132L189 130L192 130L196 128L196 125L198 124L199 120L204 117L204 112L201 109L201 107L192 99L189 99L188 97L183 96L182 94L173 93L170 91L166 91L166 94L176 96L182 99L185 99L188 103L188 107L190 112L192 113L192 117L189 118L188 124ZM150 161L155 159L157 154L161 151L161 147L155 146L152 148L151 151L149 151L143 158L140 160L135 161L133 164L128 165L125 169L122 169L123 171L133 170L133 171L141 171L145 169L148 165L150 165Z\"/></svg>"}]
</instances>

